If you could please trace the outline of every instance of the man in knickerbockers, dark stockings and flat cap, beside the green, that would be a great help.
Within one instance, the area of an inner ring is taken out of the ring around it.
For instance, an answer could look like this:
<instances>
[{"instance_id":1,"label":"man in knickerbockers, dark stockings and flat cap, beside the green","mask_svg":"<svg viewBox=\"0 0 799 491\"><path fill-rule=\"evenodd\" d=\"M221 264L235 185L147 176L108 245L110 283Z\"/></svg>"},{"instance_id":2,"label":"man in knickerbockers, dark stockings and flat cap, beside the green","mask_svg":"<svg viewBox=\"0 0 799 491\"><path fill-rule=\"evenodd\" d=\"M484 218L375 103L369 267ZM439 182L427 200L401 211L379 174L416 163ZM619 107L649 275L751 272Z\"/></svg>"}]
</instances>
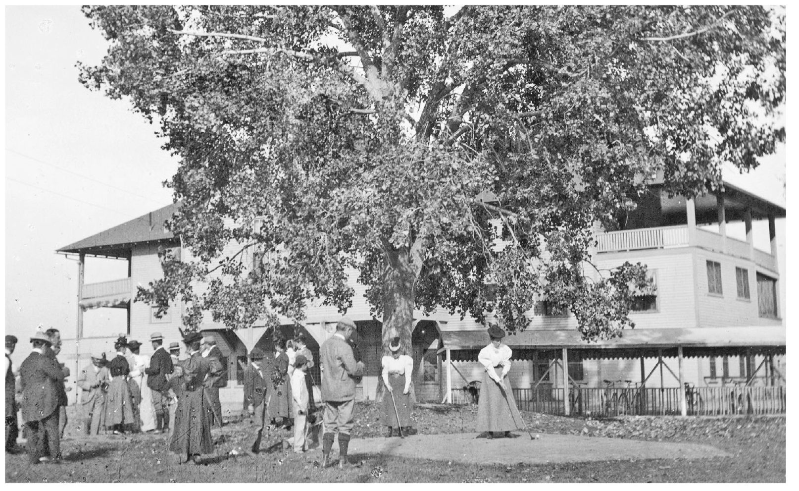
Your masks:
<instances>
[{"instance_id":1,"label":"man in knickerbockers, dark stockings and flat cap, beside the green","mask_svg":"<svg viewBox=\"0 0 799 491\"><path fill-rule=\"evenodd\" d=\"M322 437L322 466L330 462L330 450L336 433L339 433L339 467L347 461L353 409L355 409L356 377L363 377L364 362L356 361L348 339L356 325L349 317L341 317L336 333L324 341L319 357L322 372L322 400L324 401L324 437Z\"/></svg>"}]
</instances>

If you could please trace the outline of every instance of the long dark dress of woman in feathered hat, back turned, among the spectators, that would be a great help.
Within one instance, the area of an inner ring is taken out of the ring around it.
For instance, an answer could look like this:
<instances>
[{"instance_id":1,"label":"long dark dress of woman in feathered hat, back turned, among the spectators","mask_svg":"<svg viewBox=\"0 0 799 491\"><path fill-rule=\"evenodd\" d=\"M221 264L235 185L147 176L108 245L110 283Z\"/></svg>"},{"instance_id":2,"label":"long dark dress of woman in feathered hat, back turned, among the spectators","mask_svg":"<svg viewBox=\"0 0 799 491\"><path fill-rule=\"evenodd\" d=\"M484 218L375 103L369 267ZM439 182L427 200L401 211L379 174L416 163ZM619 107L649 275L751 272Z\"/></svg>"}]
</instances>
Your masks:
<instances>
[{"instance_id":1,"label":"long dark dress of woman in feathered hat, back turned, among the spectators","mask_svg":"<svg viewBox=\"0 0 799 491\"><path fill-rule=\"evenodd\" d=\"M212 408L205 394L203 381L209 373L222 371L217 358L204 358L197 352L183 362L184 392L177 400L175 424L169 450L181 456L213 452L211 440Z\"/></svg>"}]
</instances>

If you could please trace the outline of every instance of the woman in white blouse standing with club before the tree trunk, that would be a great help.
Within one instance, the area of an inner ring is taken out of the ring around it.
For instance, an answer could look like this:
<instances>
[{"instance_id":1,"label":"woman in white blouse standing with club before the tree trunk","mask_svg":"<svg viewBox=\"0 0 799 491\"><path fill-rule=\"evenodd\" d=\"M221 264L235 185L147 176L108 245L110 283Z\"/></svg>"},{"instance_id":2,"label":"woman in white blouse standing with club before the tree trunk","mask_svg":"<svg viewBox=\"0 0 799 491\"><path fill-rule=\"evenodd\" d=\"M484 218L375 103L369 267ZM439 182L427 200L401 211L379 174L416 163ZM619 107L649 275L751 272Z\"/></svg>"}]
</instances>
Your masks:
<instances>
[{"instance_id":1,"label":"woman in white blouse standing with club before the tree trunk","mask_svg":"<svg viewBox=\"0 0 799 491\"><path fill-rule=\"evenodd\" d=\"M400 337L395 337L388 345L392 356L383 357L383 383L388 390L388 393L383 395L383 421L388 426L389 437L393 436L395 428L398 428L399 435L400 427L403 436L415 433L411 428L413 358L407 354L400 354L400 347ZM400 421L397 421L398 415Z\"/></svg>"}]
</instances>

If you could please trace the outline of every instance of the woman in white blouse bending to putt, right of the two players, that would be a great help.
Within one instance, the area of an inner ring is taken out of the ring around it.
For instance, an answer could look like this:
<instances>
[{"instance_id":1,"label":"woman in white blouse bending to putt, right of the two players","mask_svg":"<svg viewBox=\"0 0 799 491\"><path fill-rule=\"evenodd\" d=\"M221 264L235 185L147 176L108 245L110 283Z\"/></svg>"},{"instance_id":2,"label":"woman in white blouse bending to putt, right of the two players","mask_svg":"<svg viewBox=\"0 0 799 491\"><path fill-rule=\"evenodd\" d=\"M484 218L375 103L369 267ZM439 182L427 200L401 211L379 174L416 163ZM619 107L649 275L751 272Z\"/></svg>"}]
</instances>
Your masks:
<instances>
[{"instance_id":1,"label":"woman in white blouse bending to putt, right of the two players","mask_svg":"<svg viewBox=\"0 0 799 491\"><path fill-rule=\"evenodd\" d=\"M477 404L477 431L503 433L504 437L518 437L513 429L523 429L522 415L516 408L511 381L507 373L511 371L511 348L503 345L505 331L498 325L488 328L491 344L480 350L477 359L485 368L483 383L480 384L480 398Z\"/></svg>"}]
</instances>

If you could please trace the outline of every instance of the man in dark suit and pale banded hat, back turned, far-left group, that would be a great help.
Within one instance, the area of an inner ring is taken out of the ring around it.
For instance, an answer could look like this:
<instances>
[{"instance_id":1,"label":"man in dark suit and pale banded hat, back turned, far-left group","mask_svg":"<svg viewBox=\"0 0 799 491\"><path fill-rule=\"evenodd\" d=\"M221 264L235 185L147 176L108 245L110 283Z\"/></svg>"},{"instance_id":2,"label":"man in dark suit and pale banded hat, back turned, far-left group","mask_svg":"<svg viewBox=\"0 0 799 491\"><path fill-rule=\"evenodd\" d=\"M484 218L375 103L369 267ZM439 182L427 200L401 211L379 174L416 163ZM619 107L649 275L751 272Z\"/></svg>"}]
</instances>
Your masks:
<instances>
[{"instance_id":1,"label":"man in dark suit and pale banded hat, back turned, far-left group","mask_svg":"<svg viewBox=\"0 0 799 491\"><path fill-rule=\"evenodd\" d=\"M55 357L45 353L50 349L50 337L38 331L30 338L33 351L19 367L22 385L22 417L28 427L28 457L31 464L38 464L46 452L45 445L54 457L61 461L58 438L58 407L64 387L64 373Z\"/></svg>"}]
</instances>

